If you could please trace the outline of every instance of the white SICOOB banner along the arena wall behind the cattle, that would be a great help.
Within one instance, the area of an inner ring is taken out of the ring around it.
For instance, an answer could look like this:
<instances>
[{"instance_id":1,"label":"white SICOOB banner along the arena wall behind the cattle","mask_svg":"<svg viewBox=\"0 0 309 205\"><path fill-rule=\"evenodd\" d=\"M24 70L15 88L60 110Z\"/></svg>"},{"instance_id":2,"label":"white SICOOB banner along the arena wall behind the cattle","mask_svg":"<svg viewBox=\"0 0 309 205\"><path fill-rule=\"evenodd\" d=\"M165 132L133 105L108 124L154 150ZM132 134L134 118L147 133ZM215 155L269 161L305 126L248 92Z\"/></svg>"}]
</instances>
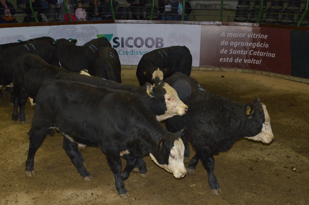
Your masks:
<instances>
[{"instance_id":1,"label":"white SICOOB banner along the arena wall behind the cattle","mask_svg":"<svg viewBox=\"0 0 309 205\"><path fill-rule=\"evenodd\" d=\"M188 47L192 66L200 62L201 25L112 23L2 28L0 44L42 36L77 39L77 45L104 36L117 50L122 65L137 65L146 52L170 46Z\"/></svg>"}]
</instances>

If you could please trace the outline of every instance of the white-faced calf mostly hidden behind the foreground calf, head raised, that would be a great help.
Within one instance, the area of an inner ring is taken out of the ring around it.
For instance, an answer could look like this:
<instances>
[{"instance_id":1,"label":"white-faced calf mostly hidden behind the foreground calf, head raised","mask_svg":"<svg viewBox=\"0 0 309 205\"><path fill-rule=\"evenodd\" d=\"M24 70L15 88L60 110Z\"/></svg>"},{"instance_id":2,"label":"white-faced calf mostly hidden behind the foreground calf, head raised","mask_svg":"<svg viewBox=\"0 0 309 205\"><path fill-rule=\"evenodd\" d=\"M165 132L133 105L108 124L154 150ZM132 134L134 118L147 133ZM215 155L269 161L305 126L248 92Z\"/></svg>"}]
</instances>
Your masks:
<instances>
[{"instance_id":1,"label":"white-faced calf mostly hidden behind the foreground calf, head raised","mask_svg":"<svg viewBox=\"0 0 309 205\"><path fill-rule=\"evenodd\" d=\"M143 105L156 115L158 121L163 121L175 115L184 115L188 110L188 106L179 99L175 89L165 82L162 82L155 87L150 86L149 84L147 86L137 87L104 80L94 76L74 75L62 72L57 74L56 79L72 80L98 87L128 91L138 97ZM150 88L151 92L149 92Z\"/></svg>"}]
</instances>

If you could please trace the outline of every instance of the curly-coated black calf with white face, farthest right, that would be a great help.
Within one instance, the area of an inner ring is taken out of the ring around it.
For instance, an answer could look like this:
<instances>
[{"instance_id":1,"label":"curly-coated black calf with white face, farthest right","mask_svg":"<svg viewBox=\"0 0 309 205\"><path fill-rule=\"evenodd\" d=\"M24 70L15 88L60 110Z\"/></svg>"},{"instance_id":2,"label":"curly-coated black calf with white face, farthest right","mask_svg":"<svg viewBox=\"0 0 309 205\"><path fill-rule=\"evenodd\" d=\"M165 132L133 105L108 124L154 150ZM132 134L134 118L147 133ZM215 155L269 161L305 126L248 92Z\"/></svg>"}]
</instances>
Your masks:
<instances>
[{"instance_id":1,"label":"curly-coated black calf with white face, farthest right","mask_svg":"<svg viewBox=\"0 0 309 205\"><path fill-rule=\"evenodd\" d=\"M241 138L271 143L273 132L266 106L258 98L243 105L208 93L196 80L182 73L175 73L165 81L190 107L184 116L167 119L167 130L174 132L180 127L188 128L184 157L189 157L188 140L196 151L188 165L188 173L194 173L200 159L207 170L211 191L219 195L221 190L214 175L213 154L229 150Z\"/></svg>"}]
</instances>

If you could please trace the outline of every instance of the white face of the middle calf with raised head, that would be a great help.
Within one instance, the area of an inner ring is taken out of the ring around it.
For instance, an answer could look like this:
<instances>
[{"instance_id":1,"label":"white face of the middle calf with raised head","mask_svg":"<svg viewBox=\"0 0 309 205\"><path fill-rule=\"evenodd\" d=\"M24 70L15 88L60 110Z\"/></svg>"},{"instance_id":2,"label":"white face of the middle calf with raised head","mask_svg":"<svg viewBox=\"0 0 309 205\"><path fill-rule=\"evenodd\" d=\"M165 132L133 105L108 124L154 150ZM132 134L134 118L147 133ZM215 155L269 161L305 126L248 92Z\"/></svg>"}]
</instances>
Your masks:
<instances>
[{"instance_id":1,"label":"white face of the middle calf with raised head","mask_svg":"<svg viewBox=\"0 0 309 205\"><path fill-rule=\"evenodd\" d=\"M164 83L163 88L166 90L164 98L167 110L164 115L157 115L157 120L162 121L175 115L184 115L188 110L188 106L179 99L176 90L167 83Z\"/></svg>"}]
</instances>

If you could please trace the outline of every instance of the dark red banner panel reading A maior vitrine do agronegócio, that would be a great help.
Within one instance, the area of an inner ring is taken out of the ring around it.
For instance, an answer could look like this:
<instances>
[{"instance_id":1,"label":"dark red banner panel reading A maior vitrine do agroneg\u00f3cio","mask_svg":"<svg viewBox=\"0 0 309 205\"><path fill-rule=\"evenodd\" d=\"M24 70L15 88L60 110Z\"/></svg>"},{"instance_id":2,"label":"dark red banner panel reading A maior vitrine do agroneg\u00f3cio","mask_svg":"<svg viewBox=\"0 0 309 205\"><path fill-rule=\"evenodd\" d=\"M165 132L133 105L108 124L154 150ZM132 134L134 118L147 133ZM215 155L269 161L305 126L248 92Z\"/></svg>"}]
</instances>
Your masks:
<instances>
[{"instance_id":1,"label":"dark red banner panel reading A maior vitrine do agroneg\u00f3cio","mask_svg":"<svg viewBox=\"0 0 309 205\"><path fill-rule=\"evenodd\" d=\"M290 30L202 25L200 66L291 75Z\"/></svg>"}]
</instances>

